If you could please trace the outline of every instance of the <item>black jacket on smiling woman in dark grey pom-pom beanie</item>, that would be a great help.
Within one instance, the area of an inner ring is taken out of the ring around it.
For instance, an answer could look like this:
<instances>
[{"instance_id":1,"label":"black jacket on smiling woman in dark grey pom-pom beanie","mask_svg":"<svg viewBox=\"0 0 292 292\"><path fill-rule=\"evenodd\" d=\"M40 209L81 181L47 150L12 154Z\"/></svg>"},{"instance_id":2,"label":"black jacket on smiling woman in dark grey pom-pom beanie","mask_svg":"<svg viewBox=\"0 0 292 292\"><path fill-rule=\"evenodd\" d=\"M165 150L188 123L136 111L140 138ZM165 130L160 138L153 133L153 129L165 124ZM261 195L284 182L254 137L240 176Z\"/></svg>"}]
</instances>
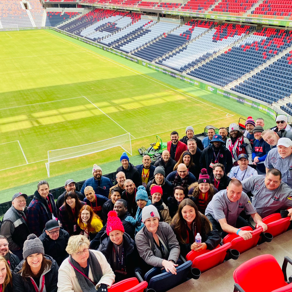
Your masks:
<instances>
[{"instance_id":1,"label":"black jacket on smiling woman in dark grey pom-pom beanie","mask_svg":"<svg viewBox=\"0 0 292 292\"><path fill-rule=\"evenodd\" d=\"M46 269L43 274L41 274L40 277L40 286L41 287L41 279L43 275L45 275L45 287L46 292L57 292L57 282L58 282L58 265L56 261L51 258L50 256L44 256L47 260L51 260L52 265L49 269ZM35 291L34 286L32 285L32 282L30 279L31 277L23 277L22 273L19 273L19 271L22 269L22 265L24 263L24 260L20 262L20 264L14 269L12 273L12 283L13 283L13 291L17 292L33 292Z\"/></svg>"}]
</instances>

